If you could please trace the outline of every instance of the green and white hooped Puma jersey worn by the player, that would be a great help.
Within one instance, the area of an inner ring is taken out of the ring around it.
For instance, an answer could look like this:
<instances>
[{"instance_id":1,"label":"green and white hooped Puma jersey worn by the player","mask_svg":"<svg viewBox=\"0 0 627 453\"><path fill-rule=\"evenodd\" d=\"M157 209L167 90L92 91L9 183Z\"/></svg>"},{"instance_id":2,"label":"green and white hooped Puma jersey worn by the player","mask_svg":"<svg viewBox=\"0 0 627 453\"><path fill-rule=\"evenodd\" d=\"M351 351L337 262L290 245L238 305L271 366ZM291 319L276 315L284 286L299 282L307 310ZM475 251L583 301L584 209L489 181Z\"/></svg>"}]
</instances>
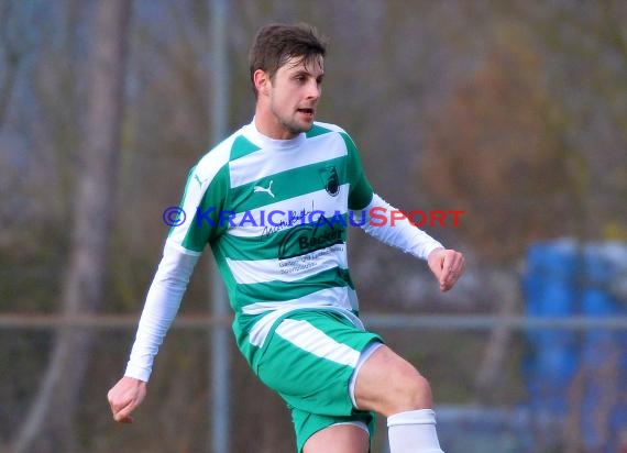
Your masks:
<instances>
[{"instance_id":1,"label":"green and white hooped Puma jersey worn by the player","mask_svg":"<svg viewBox=\"0 0 627 453\"><path fill-rule=\"evenodd\" d=\"M191 169L180 203L187 216L167 245L199 255L210 244L250 361L293 310L328 308L356 320L346 225L350 210L372 198L342 129L317 122L293 140L272 140L251 123Z\"/></svg>"}]
</instances>

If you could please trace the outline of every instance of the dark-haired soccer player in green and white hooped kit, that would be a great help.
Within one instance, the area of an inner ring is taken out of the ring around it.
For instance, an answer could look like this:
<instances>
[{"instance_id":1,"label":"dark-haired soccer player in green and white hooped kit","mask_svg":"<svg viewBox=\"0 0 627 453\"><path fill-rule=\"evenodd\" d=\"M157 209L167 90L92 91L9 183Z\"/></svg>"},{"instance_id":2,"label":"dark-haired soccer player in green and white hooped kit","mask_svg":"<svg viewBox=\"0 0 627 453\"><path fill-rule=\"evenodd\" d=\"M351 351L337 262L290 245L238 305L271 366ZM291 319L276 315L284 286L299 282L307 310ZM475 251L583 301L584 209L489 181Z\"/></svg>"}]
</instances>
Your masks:
<instances>
[{"instance_id":1,"label":"dark-haired soccer player in green and white hooped kit","mask_svg":"<svg viewBox=\"0 0 627 453\"><path fill-rule=\"evenodd\" d=\"M464 258L408 220L369 221L373 208L396 210L374 194L349 134L315 121L324 54L309 25L258 31L250 52L254 118L189 174L187 220L169 232L124 376L108 394L117 421L132 421L144 399L154 356L209 244L238 347L287 402L298 452L367 452L375 412L387 418L393 453L441 452L428 382L360 321L346 226L427 259L442 291Z\"/></svg>"}]
</instances>

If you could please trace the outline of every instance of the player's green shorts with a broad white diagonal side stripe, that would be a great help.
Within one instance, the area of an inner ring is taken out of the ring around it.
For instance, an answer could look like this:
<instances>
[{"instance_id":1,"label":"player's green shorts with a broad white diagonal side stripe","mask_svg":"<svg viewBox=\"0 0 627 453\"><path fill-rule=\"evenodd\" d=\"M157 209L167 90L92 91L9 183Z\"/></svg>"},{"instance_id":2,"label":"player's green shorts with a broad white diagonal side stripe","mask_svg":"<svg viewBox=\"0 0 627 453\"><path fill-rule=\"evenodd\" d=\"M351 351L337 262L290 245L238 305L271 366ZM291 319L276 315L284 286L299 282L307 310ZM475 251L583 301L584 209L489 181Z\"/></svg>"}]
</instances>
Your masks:
<instances>
[{"instance_id":1,"label":"player's green shorts with a broad white diagonal side stripe","mask_svg":"<svg viewBox=\"0 0 627 453\"><path fill-rule=\"evenodd\" d=\"M383 340L333 311L296 311L273 328L256 373L292 410L298 452L309 437L336 423L362 422L372 441L374 413L354 408L349 386L373 342Z\"/></svg>"}]
</instances>

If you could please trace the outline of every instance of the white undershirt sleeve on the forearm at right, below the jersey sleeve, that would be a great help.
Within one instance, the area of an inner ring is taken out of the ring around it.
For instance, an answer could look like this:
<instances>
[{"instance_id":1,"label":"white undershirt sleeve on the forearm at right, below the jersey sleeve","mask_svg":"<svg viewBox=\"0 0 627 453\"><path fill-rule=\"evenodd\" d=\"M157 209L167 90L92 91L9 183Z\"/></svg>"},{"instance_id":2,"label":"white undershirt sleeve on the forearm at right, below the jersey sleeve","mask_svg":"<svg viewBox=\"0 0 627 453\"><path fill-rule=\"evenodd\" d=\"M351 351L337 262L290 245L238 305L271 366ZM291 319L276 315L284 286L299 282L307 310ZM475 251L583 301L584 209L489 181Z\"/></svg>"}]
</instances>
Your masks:
<instances>
[{"instance_id":1,"label":"white undershirt sleeve on the forearm at right, below the jersey sleeve","mask_svg":"<svg viewBox=\"0 0 627 453\"><path fill-rule=\"evenodd\" d=\"M387 213L387 221L380 222L380 218L373 219L373 208L383 208L378 211L380 214L383 212ZM394 224L392 224L389 218L392 212L398 212L398 209L374 194L372 201L364 210L355 211L355 219L359 224L361 224L362 230L370 235L376 237L384 244L393 245L418 258L427 259L433 250L442 247L442 244L419 228L413 225L408 219L395 219ZM365 219L363 219L362 216L365 216ZM374 221L371 222L371 220Z\"/></svg>"}]
</instances>

